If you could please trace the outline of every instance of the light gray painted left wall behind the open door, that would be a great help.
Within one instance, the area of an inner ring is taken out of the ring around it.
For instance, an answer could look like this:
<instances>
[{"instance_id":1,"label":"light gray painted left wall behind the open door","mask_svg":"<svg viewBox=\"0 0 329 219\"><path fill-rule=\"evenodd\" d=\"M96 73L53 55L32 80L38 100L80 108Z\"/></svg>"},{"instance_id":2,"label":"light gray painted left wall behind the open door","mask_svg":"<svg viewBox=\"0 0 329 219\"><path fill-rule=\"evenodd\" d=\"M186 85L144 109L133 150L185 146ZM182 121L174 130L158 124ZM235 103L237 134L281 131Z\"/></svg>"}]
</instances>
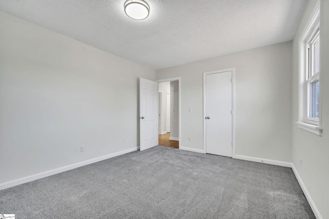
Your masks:
<instances>
[{"instance_id":1,"label":"light gray painted left wall behind the open door","mask_svg":"<svg viewBox=\"0 0 329 219\"><path fill-rule=\"evenodd\" d=\"M139 145L154 70L4 12L0 27L0 183Z\"/></svg>"}]
</instances>

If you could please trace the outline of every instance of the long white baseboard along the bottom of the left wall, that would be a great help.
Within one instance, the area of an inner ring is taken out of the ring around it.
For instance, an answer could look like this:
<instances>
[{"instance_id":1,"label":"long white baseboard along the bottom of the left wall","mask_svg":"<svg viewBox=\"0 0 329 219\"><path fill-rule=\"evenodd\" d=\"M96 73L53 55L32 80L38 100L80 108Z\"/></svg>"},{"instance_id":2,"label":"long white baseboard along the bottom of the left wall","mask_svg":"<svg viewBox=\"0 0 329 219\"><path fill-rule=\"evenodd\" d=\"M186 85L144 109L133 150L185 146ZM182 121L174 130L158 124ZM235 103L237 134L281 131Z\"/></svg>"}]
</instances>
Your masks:
<instances>
[{"instance_id":1,"label":"long white baseboard along the bottom of the left wall","mask_svg":"<svg viewBox=\"0 0 329 219\"><path fill-rule=\"evenodd\" d=\"M45 172L37 173L37 174L34 174L34 175L29 175L29 176L26 176L26 177L18 178L17 180L12 180L12 181L9 181L9 182L1 183L0 184L0 190L7 189L7 188L17 186L17 185L21 185L23 183L28 183L28 182L31 182L31 181L34 181L34 180L39 180L39 178L44 178L44 177L47 177L47 176L50 176L50 175L54 175L54 174L57 174L57 173L61 173L61 172L72 170L72 169L75 169L75 168L78 168L78 167L82 167L82 166L85 166L85 165L88 165L88 164L93 164L93 163L96 163L96 162L99 162L99 161L106 160L108 158L119 156L119 155L122 155L122 154L125 154L125 153L130 153L130 152L133 152L133 151L136 151L136 150L137 150L137 147L130 148L130 149L127 149L127 150L123 150L123 151L119 151L119 152L116 152L116 153L96 157L96 158L93 158L93 159L90 159L90 160L87 160L87 161L83 161L83 162L79 162L79 163L76 163L76 164L71 164L71 165L68 165L68 166L65 166L65 167L60 167L60 168L56 168L56 169L53 169L53 170L48 170L48 171L45 171Z\"/></svg>"}]
</instances>

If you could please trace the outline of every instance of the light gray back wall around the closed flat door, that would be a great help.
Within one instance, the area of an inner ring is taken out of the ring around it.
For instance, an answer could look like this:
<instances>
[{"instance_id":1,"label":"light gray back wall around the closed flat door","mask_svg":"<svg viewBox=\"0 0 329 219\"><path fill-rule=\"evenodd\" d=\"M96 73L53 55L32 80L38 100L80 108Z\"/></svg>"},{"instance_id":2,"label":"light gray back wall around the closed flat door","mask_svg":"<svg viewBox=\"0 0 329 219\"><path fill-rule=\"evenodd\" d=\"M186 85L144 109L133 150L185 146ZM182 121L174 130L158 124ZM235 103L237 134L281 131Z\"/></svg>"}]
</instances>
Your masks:
<instances>
[{"instance_id":1,"label":"light gray back wall around the closed flat door","mask_svg":"<svg viewBox=\"0 0 329 219\"><path fill-rule=\"evenodd\" d=\"M156 70L156 79L181 76L180 146L203 150L203 72L235 68L236 154L291 162L291 46L286 42Z\"/></svg>"}]
</instances>

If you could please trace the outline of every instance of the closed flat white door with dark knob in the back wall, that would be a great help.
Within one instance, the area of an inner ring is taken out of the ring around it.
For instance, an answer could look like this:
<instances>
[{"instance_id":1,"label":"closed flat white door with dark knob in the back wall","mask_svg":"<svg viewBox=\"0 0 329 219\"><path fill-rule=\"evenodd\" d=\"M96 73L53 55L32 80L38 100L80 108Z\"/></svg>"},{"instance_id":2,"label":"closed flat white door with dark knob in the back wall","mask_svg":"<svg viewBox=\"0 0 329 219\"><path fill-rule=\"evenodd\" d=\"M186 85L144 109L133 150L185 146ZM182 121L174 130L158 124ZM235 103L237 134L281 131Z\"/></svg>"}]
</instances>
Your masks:
<instances>
[{"instance_id":1,"label":"closed flat white door with dark knob in the back wall","mask_svg":"<svg viewBox=\"0 0 329 219\"><path fill-rule=\"evenodd\" d=\"M206 75L206 152L232 157L232 71Z\"/></svg>"}]
</instances>

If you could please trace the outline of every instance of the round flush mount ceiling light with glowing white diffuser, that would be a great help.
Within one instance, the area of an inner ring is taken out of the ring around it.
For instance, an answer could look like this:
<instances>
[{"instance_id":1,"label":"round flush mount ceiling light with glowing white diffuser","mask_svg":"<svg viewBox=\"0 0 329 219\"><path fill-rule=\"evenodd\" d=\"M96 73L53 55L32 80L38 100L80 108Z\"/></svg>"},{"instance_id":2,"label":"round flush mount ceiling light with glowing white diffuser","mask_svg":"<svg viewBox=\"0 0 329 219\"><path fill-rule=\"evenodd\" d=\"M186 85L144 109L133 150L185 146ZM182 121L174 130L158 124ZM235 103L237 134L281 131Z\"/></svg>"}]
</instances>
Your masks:
<instances>
[{"instance_id":1,"label":"round flush mount ceiling light with glowing white diffuser","mask_svg":"<svg viewBox=\"0 0 329 219\"><path fill-rule=\"evenodd\" d=\"M133 19L142 20L149 16L150 6L142 0L128 0L124 3L124 12Z\"/></svg>"}]
</instances>

